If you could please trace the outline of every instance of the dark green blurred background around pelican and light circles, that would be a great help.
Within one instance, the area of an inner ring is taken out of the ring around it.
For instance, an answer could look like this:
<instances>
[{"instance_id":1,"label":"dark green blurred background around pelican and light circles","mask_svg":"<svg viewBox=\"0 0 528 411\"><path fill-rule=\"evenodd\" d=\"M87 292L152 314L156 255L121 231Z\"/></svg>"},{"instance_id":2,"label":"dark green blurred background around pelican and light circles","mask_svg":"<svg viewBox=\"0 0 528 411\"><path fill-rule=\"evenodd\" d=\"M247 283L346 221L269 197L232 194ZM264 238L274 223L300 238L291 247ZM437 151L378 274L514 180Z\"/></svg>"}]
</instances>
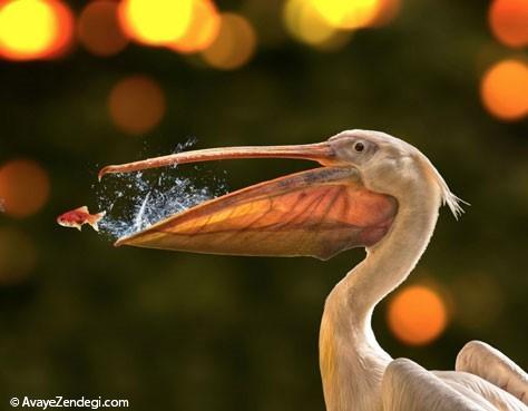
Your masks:
<instances>
[{"instance_id":1,"label":"dark green blurred background around pelican and light circles","mask_svg":"<svg viewBox=\"0 0 528 411\"><path fill-rule=\"evenodd\" d=\"M235 71L134 45L108 59L79 47L57 61L0 62L0 160L36 159L51 178L40 213L0 216L38 252L27 278L0 285L0 409L25 394L125 398L135 410L323 409L322 307L362 251L323 263L114 248L55 223L71 207L95 207L99 165L168 153L189 136L204 148L369 128L419 147L472 204L459 222L441 211L409 280L443 286L452 317L434 343L409 348L389 333L382 304L378 339L430 369L452 369L471 339L528 365L528 126L493 119L479 100L483 71L526 50L492 39L487 1L403 0L389 27L360 31L331 53L289 39L280 4L219 3L244 12L261 37ZM107 115L109 90L129 74L154 77L167 97L164 120L144 138L123 135ZM241 160L211 169L227 170L238 188L310 166Z\"/></svg>"}]
</instances>

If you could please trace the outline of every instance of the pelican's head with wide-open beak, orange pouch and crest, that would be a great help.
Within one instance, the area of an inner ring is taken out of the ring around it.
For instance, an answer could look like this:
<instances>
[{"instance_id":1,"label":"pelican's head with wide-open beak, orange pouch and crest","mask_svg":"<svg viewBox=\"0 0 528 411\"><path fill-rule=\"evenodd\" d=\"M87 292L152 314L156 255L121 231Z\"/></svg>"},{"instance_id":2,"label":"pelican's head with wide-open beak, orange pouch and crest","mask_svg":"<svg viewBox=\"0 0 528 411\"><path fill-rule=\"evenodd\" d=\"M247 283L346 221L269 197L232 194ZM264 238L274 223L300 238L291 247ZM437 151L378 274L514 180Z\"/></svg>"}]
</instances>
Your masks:
<instances>
[{"instance_id":1,"label":"pelican's head with wide-open beak, orange pouch and crest","mask_svg":"<svg viewBox=\"0 0 528 411\"><path fill-rule=\"evenodd\" d=\"M126 173L228 158L310 159L323 167L264 182L202 203L117 245L238 255L310 255L377 244L404 202L433 212L461 211L437 169L417 148L384 133L350 130L319 144L211 148L101 169ZM431 208L431 207L430 207ZM428 208L429 209L429 208Z\"/></svg>"}]
</instances>

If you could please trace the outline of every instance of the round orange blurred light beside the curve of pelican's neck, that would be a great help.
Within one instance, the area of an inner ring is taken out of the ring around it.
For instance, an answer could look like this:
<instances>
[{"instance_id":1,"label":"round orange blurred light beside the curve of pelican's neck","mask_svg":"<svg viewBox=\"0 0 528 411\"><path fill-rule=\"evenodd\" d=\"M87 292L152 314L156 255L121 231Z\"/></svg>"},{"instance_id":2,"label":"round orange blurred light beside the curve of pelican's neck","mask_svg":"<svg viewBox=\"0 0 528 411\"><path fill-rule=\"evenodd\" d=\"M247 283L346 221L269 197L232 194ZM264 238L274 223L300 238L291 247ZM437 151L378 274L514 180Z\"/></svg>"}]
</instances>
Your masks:
<instances>
[{"instance_id":1,"label":"round orange blurred light beside the curve of pelican's neck","mask_svg":"<svg viewBox=\"0 0 528 411\"><path fill-rule=\"evenodd\" d=\"M422 345L436 340L448 323L447 307L433 290L408 286L389 303L389 327L401 341Z\"/></svg>"}]
</instances>

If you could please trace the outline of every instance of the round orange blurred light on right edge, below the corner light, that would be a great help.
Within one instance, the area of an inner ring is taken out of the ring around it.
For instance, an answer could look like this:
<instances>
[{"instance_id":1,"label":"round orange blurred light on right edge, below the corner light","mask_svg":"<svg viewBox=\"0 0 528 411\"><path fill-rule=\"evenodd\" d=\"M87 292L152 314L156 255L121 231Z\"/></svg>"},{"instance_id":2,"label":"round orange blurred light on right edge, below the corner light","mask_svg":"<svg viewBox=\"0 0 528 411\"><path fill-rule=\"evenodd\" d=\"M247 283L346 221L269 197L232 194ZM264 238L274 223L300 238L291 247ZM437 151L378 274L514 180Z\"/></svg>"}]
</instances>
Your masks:
<instances>
[{"instance_id":1,"label":"round orange blurred light on right edge, below the corner light","mask_svg":"<svg viewBox=\"0 0 528 411\"><path fill-rule=\"evenodd\" d=\"M482 102L502 120L517 120L528 114L528 66L520 60L502 60L482 77Z\"/></svg>"}]
</instances>

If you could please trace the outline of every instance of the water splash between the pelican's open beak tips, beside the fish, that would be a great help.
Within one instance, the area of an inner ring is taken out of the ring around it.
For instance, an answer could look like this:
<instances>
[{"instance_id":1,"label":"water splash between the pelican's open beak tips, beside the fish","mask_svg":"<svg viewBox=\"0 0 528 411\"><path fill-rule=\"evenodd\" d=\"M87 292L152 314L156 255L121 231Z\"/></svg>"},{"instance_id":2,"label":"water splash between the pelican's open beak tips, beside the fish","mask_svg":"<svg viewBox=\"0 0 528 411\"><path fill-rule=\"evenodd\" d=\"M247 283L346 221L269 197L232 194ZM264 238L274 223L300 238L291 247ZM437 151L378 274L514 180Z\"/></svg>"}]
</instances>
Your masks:
<instances>
[{"instance_id":1,"label":"water splash between the pelican's open beak tips, beside the fish","mask_svg":"<svg viewBox=\"0 0 528 411\"><path fill-rule=\"evenodd\" d=\"M178 144L174 153L189 148L195 140ZM223 177L203 173L183 176L176 166L108 175L95 186L98 209L106 211L99 233L116 239L137 233L173 215L227 192Z\"/></svg>"}]
</instances>

